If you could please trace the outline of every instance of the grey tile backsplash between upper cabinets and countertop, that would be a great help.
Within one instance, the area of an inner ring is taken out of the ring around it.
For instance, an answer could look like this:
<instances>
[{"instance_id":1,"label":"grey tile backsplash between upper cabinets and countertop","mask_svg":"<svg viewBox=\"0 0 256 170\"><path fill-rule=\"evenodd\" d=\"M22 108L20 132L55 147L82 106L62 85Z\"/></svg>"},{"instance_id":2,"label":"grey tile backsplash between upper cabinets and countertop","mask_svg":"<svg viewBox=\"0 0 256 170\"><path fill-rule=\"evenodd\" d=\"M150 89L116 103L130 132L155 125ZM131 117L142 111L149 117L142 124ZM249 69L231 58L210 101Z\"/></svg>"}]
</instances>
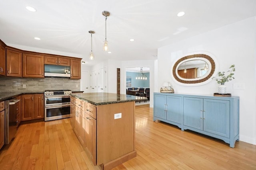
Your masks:
<instances>
[{"instance_id":1,"label":"grey tile backsplash between upper cabinets and countertop","mask_svg":"<svg viewBox=\"0 0 256 170\"><path fill-rule=\"evenodd\" d=\"M26 87L25 87L26 86ZM70 78L0 77L0 92L41 92L44 90L80 90L80 80Z\"/></svg>"}]
</instances>

